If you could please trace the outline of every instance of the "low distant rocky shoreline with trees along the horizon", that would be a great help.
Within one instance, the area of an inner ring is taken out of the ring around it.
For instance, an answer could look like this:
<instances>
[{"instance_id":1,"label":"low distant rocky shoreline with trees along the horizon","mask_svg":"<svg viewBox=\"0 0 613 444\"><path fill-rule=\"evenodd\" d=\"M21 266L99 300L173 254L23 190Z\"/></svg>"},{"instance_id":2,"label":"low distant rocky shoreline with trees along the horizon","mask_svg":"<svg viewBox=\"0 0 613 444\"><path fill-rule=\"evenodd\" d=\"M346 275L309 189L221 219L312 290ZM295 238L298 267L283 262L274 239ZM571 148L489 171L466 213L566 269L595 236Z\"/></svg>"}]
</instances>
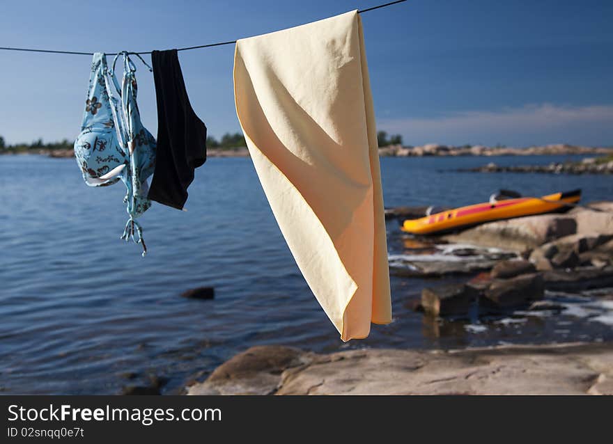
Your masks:
<instances>
[{"instance_id":1,"label":"low distant rocky shoreline with trees along the horizon","mask_svg":"<svg viewBox=\"0 0 613 444\"><path fill-rule=\"evenodd\" d=\"M19 152L0 154L40 154L49 157L74 157L72 149L33 148ZM488 147L483 145L448 146L430 143L421 146L388 145L379 148L380 157L491 157L491 156L559 156L559 155L612 155L613 148L577 145L540 145L528 148ZM207 157L249 157L246 147L209 148Z\"/></svg>"}]
</instances>

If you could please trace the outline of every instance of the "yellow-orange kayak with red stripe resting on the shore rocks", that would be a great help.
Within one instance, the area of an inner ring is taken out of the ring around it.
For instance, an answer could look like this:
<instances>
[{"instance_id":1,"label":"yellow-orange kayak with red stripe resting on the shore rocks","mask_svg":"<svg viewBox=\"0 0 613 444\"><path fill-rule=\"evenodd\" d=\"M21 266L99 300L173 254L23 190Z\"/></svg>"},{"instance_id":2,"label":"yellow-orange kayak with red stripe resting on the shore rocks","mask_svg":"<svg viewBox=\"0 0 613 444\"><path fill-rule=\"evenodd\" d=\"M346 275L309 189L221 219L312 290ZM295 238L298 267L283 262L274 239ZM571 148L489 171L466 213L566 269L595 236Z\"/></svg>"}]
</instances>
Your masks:
<instances>
[{"instance_id":1,"label":"yellow-orange kayak with red stripe resting on the shore rocks","mask_svg":"<svg viewBox=\"0 0 613 444\"><path fill-rule=\"evenodd\" d=\"M430 214L421 219L408 219L404 221L401 230L414 235L439 234L483 222L556 212L568 208L568 205L564 203L576 203L580 198L581 190L578 189L566 193L554 193L542 198L521 197L478 203Z\"/></svg>"}]
</instances>

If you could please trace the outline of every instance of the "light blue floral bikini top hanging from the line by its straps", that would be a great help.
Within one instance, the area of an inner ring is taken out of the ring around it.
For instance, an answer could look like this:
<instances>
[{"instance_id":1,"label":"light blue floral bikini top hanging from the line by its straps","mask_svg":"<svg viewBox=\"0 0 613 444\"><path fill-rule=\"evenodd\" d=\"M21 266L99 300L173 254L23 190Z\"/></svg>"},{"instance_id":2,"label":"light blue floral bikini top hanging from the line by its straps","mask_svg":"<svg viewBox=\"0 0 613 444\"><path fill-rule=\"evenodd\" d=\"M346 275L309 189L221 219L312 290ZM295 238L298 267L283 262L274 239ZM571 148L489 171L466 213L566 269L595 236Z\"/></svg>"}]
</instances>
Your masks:
<instances>
[{"instance_id":1,"label":"light blue floral bikini top hanging from the line by its straps","mask_svg":"<svg viewBox=\"0 0 613 444\"><path fill-rule=\"evenodd\" d=\"M94 54L81 133L75 141L75 157L90 187L106 187L118 180L125 184L124 202L129 219L121 239L141 244L144 256L147 247L136 218L151 206L146 180L155 167L156 143L141 123L134 75L136 67L130 54L134 53L122 51L117 54L112 70L107 66L104 53ZM119 56L123 56L124 66L121 88L114 73Z\"/></svg>"}]
</instances>

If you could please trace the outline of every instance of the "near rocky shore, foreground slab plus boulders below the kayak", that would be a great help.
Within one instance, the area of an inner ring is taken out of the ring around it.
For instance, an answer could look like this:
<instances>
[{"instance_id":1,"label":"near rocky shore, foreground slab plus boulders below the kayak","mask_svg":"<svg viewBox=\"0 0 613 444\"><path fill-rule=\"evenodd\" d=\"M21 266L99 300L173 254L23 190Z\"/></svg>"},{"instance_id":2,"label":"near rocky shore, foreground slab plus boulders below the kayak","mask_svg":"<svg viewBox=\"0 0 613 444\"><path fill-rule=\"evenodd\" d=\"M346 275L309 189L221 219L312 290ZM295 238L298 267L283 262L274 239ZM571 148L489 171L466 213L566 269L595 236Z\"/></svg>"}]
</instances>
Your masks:
<instances>
[{"instance_id":1,"label":"near rocky shore, foreground slab plus boulders below the kayak","mask_svg":"<svg viewBox=\"0 0 613 444\"><path fill-rule=\"evenodd\" d=\"M406 236L389 257L394 276L450 278L405 307L437 319L525 322L595 310L613 326L613 202L484 223L442 237ZM423 216L398 207L387 219ZM559 299L562 294L566 299ZM576 303L568 303L568 296ZM601 311L596 310L598 307ZM485 328L485 327L483 327ZM613 344L498 345L468 349L358 349L316 354L252 347L217 367L188 395L613 395Z\"/></svg>"}]
</instances>

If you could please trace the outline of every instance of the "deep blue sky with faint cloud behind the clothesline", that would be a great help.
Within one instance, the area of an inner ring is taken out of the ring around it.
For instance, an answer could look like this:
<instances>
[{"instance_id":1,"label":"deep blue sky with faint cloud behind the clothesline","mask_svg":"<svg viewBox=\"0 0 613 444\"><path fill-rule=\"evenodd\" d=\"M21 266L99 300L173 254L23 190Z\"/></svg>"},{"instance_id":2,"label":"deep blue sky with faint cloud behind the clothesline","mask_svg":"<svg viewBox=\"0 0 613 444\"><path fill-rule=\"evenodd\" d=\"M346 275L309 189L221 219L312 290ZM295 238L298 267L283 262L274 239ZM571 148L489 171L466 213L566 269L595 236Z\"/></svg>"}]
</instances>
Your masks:
<instances>
[{"instance_id":1,"label":"deep blue sky with faint cloud behind the clothesline","mask_svg":"<svg viewBox=\"0 0 613 444\"><path fill-rule=\"evenodd\" d=\"M0 46L145 51L257 35L385 0L3 2ZM613 2L409 0L362 17L379 129L405 143L613 145ZM240 129L233 45L180 53L209 134ZM89 56L0 51L0 135L79 132ZM155 134L153 77L139 107Z\"/></svg>"}]
</instances>

